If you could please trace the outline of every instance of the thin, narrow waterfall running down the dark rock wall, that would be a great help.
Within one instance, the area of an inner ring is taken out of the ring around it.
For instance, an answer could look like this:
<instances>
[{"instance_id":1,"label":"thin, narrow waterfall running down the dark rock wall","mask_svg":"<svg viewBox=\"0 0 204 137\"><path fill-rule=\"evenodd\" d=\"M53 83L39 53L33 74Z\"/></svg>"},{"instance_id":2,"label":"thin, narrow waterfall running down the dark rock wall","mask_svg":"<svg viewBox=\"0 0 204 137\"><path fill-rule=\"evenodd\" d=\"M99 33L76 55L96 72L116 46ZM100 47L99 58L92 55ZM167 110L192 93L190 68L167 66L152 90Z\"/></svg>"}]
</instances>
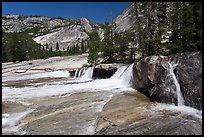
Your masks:
<instances>
[{"instance_id":1,"label":"thin, narrow waterfall running down the dark rock wall","mask_svg":"<svg viewBox=\"0 0 204 137\"><path fill-rule=\"evenodd\" d=\"M181 93L181 88L180 88L179 82L176 79L176 76L174 74L174 69L176 68L178 63L177 64L171 64L170 62L168 62L168 65L169 65L169 75L173 78L173 82L176 86L176 94L177 94L177 102L178 102L177 105L183 106L184 105L184 98L183 98L182 93Z\"/></svg>"}]
</instances>

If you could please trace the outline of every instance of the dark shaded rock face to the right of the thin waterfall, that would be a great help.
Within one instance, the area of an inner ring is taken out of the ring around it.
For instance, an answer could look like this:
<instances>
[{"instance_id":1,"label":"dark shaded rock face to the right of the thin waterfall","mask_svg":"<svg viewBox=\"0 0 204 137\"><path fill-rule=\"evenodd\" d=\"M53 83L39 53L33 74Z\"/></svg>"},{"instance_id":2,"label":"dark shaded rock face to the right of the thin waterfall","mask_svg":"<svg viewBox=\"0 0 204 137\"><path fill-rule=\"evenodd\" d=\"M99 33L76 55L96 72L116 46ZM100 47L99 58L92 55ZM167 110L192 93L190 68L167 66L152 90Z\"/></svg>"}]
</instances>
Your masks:
<instances>
[{"instance_id":1,"label":"dark shaded rock face to the right of the thin waterfall","mask_svg":"<svg viewBox=\"0 0 204 137\"><path fill-rule=\"evenodd\" d=\"M186 106L202 109L202 54L201 52L181 53L175 72Z\"/></svg>"}]
</instances>

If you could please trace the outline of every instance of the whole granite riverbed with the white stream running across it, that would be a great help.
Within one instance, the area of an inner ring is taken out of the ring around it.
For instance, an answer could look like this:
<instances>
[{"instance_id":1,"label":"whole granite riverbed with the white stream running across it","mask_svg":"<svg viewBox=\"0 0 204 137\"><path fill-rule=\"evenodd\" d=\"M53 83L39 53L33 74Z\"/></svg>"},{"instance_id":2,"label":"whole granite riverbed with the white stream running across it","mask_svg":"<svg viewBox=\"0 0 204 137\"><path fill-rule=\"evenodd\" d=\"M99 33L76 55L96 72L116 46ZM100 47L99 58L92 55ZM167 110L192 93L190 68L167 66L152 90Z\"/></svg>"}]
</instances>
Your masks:
<instances>
[{"instance_id":1,"label":"whole granite riverbed with the white stream running across it","mask_svg":"<svg viewBox=\"0 0 204 137\"><path fill-rule=\"evenodd\" d=\"M151 102L131 88L133 64L107 79L90 79L93 69L71 77L85 58L3 63L2 134L202 134L202 110Z\"/></svg>"}]
</instances>

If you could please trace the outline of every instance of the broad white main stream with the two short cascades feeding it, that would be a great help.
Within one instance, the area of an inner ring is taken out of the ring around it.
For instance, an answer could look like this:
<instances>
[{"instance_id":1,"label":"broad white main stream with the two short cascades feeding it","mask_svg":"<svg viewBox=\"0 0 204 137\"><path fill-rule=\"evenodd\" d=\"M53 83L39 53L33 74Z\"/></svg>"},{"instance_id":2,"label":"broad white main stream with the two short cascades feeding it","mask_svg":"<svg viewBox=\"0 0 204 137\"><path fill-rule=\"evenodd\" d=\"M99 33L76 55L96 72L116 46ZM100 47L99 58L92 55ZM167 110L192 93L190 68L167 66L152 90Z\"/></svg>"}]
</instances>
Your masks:
<instances>
[{"instance_id":1,"label":"broad white main stream with the two short cascades feeding it","mask_svg":"<svg viewBox=\"0 0 204 137\"><path fill-rule=\"evenodd\" d=\"M38 87L23 87L23 88L14 88L14 87L3 87L2 88L2 100L9 101L9 100L26 100L31 98L38 98L38 97L46 97L46 96L53 96L53 95L60 95L60 94L72 94L76 92L82 91L104 91L104 90L113 90L113 89L120 89L119 91L124 90L132 90L131 88L131 70L133 64L129 67L122 67L123 69L118 69L118 72L115 73L110 79L96 79L92 80L93 75L93 67L89 67L85 70L84 75L82 75L79 79L70 80L70 82L80 82L77 84L58 84L58 85L43 85ZM124 69L126 68L126 69ZM56 74L52 75L54 77L62 76L58 75L59 73L49 72L46 74ZM64 76L70 76L69 74L63 72ZM123 74L121 74L123 73ZM61 74L61 73L60 73ZM129 75L128 75L129 74ZM34 77L35 76L35 77ZM30 78L39 78L45 77L45 74L33 74ZM50 75L47 75L49 77ZM21 77L19 79L23 79L27 77ZM90 81L92 80L92 81ZM43 91L43 92L42 92ZM118 91L118 90L117 90Z\"/></svg>"}]
</instances>

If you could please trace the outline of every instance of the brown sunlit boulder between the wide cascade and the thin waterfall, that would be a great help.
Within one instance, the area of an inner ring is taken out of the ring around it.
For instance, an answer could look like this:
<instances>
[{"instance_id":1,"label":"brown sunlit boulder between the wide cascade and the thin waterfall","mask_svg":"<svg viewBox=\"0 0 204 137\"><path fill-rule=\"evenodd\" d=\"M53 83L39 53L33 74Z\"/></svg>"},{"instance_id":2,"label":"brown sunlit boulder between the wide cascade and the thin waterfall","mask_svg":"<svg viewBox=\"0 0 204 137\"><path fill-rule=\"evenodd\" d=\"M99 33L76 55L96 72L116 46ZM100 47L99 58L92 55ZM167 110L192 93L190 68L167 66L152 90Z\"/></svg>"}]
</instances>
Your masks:
<instances>
[{"instance_id":1,"label":"brown sunlit boulder between the wide cascade and the thin waterfall","mask_svg":"<svg viewBox=\"0 0 204 137\"><path fill-rule=\"evenodd\" d=\"M168 78L167 58L149 56L133 67L133 86L151 101L176 103L176 88Z\"/></svg>"}]
</instances>

